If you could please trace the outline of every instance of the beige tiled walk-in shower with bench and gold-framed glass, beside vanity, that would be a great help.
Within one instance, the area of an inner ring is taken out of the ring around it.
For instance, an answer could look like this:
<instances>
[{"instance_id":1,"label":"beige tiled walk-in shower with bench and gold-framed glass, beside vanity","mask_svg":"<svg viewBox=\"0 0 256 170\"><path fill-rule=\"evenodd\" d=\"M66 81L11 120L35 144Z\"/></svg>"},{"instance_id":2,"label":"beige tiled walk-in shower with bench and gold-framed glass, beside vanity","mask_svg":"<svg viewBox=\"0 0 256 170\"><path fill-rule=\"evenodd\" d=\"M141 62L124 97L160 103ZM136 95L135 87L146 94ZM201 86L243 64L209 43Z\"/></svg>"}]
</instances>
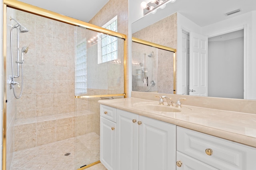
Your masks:
<instances>
[{"instance_id":1,"label":"beige tiled walk-in shower with bench and gold-framed glass, beside vanity","mask_svg":"<svg viewBox=\"0 0 256 170\"><path fill-rule=\"evenodd\" d=\"M42 14L7 7L4 15L7 103L3 169L82 170L99 161L98 100L125 95L125 36L96 26L95 31L92 25L85 29L82 21L70 18L69 24L67 17L64 23ZM19 35L13 31L11 39L10 31L18 23L29 31ZM90 41L94 37L96 40ZM107 61L102 58L105 40L110 41ZM13 56L22 55L22 62L13 67L14 74L23 67L23 78L16 77L16 85L11 65L17 60L11 60L11 48ZM21 97L15 98L10 87L17 94L23 88Z\"/></svg>"}]
</instances>

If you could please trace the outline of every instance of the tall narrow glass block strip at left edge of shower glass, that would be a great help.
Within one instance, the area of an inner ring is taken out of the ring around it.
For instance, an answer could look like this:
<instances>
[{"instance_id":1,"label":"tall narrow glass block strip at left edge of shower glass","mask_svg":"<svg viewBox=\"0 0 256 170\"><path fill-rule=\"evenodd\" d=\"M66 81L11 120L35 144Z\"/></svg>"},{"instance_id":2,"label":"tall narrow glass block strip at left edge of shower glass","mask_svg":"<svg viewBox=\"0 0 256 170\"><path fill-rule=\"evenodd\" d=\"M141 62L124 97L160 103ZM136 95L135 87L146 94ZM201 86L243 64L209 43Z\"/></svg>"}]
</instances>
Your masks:
<instances>
[{"instance_id":1,"label":"tall narrow glass block strip at left edge of shower glass","mask_svg":"<svg viewBox=\"0 0 256 170\"><path fill-rule=\"evenodd\" d=\"M76 95L87 93L86 41L76 45Z\"/></svg>"}]
</instances>

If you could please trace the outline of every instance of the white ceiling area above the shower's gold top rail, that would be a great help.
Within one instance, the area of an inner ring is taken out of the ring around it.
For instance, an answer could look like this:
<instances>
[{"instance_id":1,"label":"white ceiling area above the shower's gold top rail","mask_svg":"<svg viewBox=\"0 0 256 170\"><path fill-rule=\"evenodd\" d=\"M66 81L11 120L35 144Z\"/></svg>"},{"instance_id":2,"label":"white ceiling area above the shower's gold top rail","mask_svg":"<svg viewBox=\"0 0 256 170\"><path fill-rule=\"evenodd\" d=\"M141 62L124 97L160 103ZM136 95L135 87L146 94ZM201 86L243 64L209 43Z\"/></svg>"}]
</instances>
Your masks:
<instances>
[{"instance_id":1,"label":"white ceiling area above the shower's gold top rail","mask_svg":"<svg viewBox=\"0 0 256 170\"><path fill-rule=\"evenodd\" d=\"M109 0L19 0L81 21L90 21Z\"/></svg>"}]
</instances>

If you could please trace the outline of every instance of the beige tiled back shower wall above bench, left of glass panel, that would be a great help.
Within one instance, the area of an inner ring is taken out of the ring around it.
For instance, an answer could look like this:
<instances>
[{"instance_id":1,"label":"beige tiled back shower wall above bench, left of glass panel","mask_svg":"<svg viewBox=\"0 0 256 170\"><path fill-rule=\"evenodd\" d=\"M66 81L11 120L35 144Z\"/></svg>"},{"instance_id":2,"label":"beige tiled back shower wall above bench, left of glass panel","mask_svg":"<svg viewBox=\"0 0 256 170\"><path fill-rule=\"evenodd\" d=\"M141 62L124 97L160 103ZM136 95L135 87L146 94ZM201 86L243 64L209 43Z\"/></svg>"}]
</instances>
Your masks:
<instances>
[{"instance_id":1,"label":"beige tiled back shower wall above bench, left of glass panel","mask_svg":"<svg viewBox=\"0 0 256 170\"><path fill-rule=\"evenodd\" d=\"M20 33L20 47L29 50L16 119L74 111L75 27L22 11L16 18L29 30Z\"/></svg>"}]
</instances>

